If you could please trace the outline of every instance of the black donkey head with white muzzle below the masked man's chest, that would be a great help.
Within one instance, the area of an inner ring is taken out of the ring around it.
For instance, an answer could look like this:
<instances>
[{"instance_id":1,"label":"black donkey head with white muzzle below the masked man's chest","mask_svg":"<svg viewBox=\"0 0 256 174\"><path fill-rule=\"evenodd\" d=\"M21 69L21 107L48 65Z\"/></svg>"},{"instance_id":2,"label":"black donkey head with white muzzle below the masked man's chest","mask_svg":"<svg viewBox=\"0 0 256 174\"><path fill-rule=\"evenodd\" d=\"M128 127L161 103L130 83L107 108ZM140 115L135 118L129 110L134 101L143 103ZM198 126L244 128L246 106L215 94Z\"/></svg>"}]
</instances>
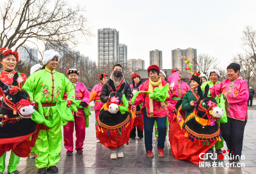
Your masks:
<instances>
[{"instance_id":1,"label":"black donkey head with white muzzle below the masked man's chest","mask_svg":"<svg viewBox=\"0 0 256 174\"><path fill-rule=\"evenodd\" d=\"M116 114L119 108L118 106L122 105L125 82L123 82L122 85L116 89L113 80L109 79L109 86L113 92L111 92L108 96L108 111L112 114Z\"/></svg>"}]
</instances>

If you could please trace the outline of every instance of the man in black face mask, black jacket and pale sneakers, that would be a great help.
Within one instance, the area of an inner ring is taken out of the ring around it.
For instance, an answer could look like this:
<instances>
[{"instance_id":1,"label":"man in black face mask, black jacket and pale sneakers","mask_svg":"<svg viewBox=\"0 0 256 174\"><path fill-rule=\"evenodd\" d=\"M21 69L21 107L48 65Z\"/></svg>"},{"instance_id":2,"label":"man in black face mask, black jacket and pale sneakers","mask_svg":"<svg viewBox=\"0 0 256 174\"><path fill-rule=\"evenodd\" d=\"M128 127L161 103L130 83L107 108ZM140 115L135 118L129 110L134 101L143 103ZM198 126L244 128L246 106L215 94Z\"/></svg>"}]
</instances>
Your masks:
<instances>
[{"instance_id":1,"label":"man in black face mask, black jacket and pale sneakers","mask_svg":"<svg viewBox=\"0 0 256 174\"><path fill-rule=\"evenodd\" d=\"M132 89L130 87L129 82L127 82L124 79L123 67L120 64L116 64L111 70L111 72L112 72L112 75L110 76L110 79L113 80L116 90L118 89L119 86L125 83L125 87L122 93L125 94L126 99L129 101L129 99L132 98ZM103 84L100 92L100 100L102 103L107 103L108 96L111 92L112 92L112 89L109 85L109 79L108 79L108 82ZM124 145L120 146L117 149L110 149L111 159L122 158L122 157L124 157Z\"/></svg>"}]
</instances>

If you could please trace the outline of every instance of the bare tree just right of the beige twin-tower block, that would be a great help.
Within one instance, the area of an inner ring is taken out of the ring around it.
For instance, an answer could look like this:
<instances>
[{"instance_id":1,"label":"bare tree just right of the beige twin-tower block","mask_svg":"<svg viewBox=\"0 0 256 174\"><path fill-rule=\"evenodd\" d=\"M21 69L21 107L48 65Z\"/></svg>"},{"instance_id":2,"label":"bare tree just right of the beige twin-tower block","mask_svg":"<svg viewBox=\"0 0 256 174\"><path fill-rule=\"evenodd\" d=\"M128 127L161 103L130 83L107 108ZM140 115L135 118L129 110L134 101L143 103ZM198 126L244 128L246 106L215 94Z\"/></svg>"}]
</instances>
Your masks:
<instances>
[{"instance_id":1,"label":"bare tree just right of the beige twin-tower block","mask_svg":"<svg viewBox=\"0 0 256 174\"><path fill-rule=\"evenodd\" d=\"M220 61L207 53L200 53L197 56L196 64L197 70L206 74L209 69L216 69L216 67L220 64Z\"/></svg>"}]
</instances>

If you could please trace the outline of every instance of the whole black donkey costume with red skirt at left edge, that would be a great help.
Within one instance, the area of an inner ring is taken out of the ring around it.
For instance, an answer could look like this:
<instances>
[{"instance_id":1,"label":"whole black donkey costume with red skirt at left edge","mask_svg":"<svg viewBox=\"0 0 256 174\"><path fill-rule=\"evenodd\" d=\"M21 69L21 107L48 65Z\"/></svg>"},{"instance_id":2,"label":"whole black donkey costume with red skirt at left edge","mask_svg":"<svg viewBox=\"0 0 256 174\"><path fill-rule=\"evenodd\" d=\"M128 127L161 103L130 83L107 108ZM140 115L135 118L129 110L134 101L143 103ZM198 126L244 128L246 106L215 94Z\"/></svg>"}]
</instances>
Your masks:
<instances>
[{"instance_id":1,"label":"whole black donkey costume with red skirt at left edge","mask_svg":"<svg viewBox=\"0 0 256 174\"><path fill-rule=\"evenodd\" d=\"M18 86L18 73L13 76L12 86L0 81L4 91L0 108L0 156L12 150L17 156L27 157L31 151L29 137L36 131L31 120L34 107L29 104L27 91Z\"/></svg>"}]
</instances>

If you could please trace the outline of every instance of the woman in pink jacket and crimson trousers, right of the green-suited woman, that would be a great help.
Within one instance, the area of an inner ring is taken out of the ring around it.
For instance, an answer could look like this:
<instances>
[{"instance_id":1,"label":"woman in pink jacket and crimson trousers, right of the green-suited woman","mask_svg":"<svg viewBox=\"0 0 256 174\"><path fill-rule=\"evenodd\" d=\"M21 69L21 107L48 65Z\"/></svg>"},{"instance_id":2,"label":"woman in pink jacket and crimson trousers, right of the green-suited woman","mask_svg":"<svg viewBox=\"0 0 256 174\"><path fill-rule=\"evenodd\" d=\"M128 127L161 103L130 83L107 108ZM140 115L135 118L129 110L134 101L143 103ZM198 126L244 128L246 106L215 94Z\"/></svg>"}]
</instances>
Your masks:
<instances>
[{"instance_id":1,"label":"woman in pink jacket and crimson trousers, right of the green-suited woman","mask_svg":"<svg viewBox=\"0 0 256 174\"><path fill-rule=\"evenodd\" d=\"M78 76L80 71L76 69L69 69L66 71L68 74L68 80L73 83L75 88L75 99L81 100L80 106L88 107L90 101L90 94L84 84L78 82ZM63 100L67 99L67 93L64 93ZM85 138L85 114L83 108L77 108L77 112L73 112L75 121L68 121L68 124L63 126L63 136L64 136L64 146L68 150L66 154L72 155L73 153L73 132L74 132L74 123L76 129L76 151L77 154L83 154L83 145Z\"/></svg>"}]
</instances>

